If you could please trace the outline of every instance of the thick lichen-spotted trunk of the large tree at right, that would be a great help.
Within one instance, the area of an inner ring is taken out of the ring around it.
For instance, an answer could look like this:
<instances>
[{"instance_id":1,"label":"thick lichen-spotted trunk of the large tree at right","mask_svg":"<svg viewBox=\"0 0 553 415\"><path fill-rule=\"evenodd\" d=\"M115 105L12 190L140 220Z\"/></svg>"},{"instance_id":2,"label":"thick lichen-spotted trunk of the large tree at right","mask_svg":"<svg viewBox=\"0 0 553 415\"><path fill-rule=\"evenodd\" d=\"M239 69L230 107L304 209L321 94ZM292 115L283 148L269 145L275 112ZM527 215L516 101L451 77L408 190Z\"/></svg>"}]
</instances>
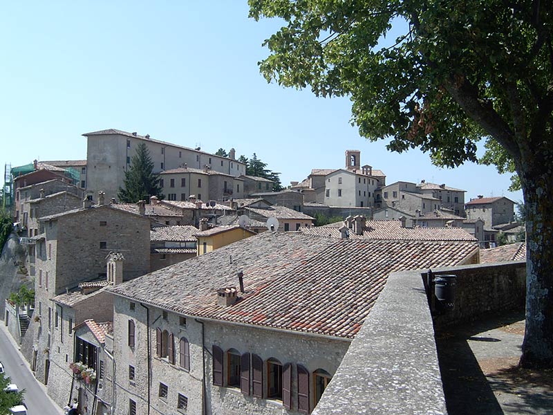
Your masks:
<instances>
[{"instance_id":1,"label":"thick lichen-spotted trunk of the large tree at right","mask_svg":"<svg viewBox=\"0 0 553 415\"><path fill-rule=\"evenodd\" d=\"M547 159L543 154L536 158ZM553 173L550 160L536 163L536 158L520 177L526 213L526 331L521 366L537 369L553 367Z\"/></svg>"}]
</instances>

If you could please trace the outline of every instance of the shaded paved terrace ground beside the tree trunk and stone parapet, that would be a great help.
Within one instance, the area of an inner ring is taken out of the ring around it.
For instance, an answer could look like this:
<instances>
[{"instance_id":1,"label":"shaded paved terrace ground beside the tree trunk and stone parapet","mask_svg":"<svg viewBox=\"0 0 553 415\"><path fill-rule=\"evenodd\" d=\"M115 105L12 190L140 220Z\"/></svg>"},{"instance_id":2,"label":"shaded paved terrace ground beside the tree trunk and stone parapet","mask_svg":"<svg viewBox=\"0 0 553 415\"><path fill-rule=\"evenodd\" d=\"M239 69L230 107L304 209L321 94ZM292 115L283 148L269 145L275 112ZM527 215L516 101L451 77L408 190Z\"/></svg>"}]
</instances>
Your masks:
<instances>
[{"instance_id":1,"label":"shaded paved terrace ground beside the tree trunk and stone parapet","mask_svg":"<svg viewBox=\"0 0 553 415\"><path fill-rule=\"evenodd\" d=\"M523 335L516 311L438 333L449 415L553 414L553 371L517 367Z\"/></svg>"}]
</instances>

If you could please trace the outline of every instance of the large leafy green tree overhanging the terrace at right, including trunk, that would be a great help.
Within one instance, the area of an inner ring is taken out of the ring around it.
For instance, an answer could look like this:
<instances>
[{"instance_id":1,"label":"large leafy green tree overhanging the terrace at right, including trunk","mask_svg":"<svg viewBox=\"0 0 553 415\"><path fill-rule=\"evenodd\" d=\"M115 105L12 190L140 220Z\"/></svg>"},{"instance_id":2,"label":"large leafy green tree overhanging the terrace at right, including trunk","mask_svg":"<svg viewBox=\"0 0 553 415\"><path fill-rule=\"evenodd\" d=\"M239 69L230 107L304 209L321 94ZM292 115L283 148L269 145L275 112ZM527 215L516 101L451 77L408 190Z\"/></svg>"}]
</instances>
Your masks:
<instances>
[{"instance_id":1,"label":"large leafy green tree overhanging the terrace at right, including trunk","mask_svg":"<svg viewBox=\"0 0 553 415\"><path fill-rule=\"evenodd\" d=\"M285 21L264 42L268 81L348 96L361 136L420 147L438 165L518 174L525 201L527 320L521 364L553 367L553 6L550 0L249 0ZM406 21L391 46L392 24ZM509 163L510 167L509 167Z\"/></svg>"}]
</instances>

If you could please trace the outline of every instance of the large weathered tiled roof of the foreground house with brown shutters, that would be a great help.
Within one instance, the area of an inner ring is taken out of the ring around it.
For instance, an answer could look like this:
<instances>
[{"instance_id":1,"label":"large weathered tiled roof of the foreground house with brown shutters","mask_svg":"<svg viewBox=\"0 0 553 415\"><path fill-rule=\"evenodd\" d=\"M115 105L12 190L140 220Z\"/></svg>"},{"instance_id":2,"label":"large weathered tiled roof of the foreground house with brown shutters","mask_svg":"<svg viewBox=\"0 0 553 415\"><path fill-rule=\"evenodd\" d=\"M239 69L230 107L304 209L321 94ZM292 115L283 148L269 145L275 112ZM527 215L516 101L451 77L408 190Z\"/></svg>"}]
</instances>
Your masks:
<instances>
[{"instance_id":1,"label":"large weathered tiled roof of the foreground house with brown shutters","mask_svg":"<svg viewBox=\"0 0 553 415\"><path fill-rule=\"evenodd\" d=\"M389 273L461 264L469 241L375 241L264 232L109 290L182 315L353 338ZM232 257L232 261L230 258ZM232 306L216 291L238 286Z\"/></svg>"}]
</instances>

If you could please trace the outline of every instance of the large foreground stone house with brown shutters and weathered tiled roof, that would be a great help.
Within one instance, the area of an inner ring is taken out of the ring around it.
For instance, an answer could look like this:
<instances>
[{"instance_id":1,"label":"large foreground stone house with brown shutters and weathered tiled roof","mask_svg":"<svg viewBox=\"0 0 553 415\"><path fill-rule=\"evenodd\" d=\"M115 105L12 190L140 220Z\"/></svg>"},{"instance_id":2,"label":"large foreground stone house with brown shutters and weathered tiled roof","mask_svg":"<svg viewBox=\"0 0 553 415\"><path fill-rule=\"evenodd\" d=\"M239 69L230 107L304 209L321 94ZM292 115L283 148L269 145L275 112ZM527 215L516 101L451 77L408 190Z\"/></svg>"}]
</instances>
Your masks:
<instances>
[{"instance_id":1,"label":"large foreground stone house with brown shutters and weathered tiled roof","mask_svg":"<svg viewBox=\"0 0 553 415\"><path fill-rule=\"evenodd\" d=\"M115 414L308 414L388 273L477 254L474 241L265 232L109 288Z\"/></svg>"}]
</instances>

